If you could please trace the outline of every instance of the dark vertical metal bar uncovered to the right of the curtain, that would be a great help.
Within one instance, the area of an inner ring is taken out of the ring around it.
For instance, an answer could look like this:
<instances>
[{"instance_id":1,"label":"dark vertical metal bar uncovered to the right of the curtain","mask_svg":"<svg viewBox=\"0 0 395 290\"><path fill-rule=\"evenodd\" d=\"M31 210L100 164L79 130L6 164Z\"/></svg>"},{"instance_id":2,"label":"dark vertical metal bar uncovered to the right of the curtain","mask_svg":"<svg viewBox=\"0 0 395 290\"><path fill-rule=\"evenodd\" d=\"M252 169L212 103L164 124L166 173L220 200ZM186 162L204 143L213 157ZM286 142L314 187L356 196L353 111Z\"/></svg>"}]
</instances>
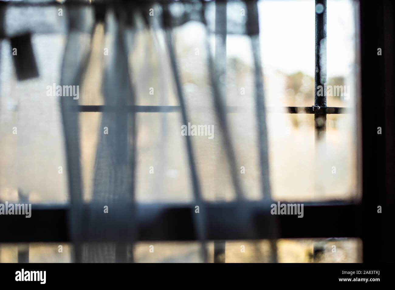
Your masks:
<instances>
[{"instance_id":1,"label":"dark vertical metal bar uncovered to the right of the curtain","mask_svg":"<svg viewBox=\"0 0 395 290\"><path fill-rule=\"evenodd\" d=\"M314 107L326 107L326 0L316 0L315 3L315 74L314 74ZM323 144L325 150L326 140L326 112L314 111L314 144L316 159L316 181L322 182L321 160L322 154L318 151L318 143ZM320 158L319 158L320 157ZM318 188L314 188L318 191ZM315 242L313 248L313 261L324 253L325 245Z\"/></svg>"}]
</instances>

